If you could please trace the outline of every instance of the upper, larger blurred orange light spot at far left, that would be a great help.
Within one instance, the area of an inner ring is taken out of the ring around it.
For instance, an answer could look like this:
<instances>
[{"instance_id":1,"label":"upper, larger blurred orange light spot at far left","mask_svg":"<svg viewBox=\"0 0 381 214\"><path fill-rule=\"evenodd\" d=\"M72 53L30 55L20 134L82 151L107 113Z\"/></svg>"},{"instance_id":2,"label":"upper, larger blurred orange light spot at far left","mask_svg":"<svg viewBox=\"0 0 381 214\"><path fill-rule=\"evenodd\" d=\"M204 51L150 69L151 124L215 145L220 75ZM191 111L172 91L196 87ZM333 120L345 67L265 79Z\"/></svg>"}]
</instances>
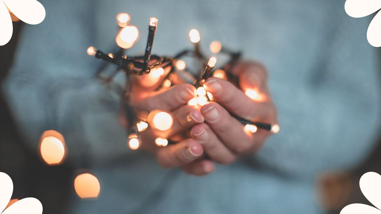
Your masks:
<instances>
[{"instance_id":1,"label":"upper, larger blurred orange light spot at far left","mask_svg":"<svg viewBox=\"0 0 381 214\"><path fill-rule=\"evenodd\" d=\"M65 157L64 137L54 130L45 131L40 139L40 154L49 165L62 163Z\"/></svg>"}]
</instances>

